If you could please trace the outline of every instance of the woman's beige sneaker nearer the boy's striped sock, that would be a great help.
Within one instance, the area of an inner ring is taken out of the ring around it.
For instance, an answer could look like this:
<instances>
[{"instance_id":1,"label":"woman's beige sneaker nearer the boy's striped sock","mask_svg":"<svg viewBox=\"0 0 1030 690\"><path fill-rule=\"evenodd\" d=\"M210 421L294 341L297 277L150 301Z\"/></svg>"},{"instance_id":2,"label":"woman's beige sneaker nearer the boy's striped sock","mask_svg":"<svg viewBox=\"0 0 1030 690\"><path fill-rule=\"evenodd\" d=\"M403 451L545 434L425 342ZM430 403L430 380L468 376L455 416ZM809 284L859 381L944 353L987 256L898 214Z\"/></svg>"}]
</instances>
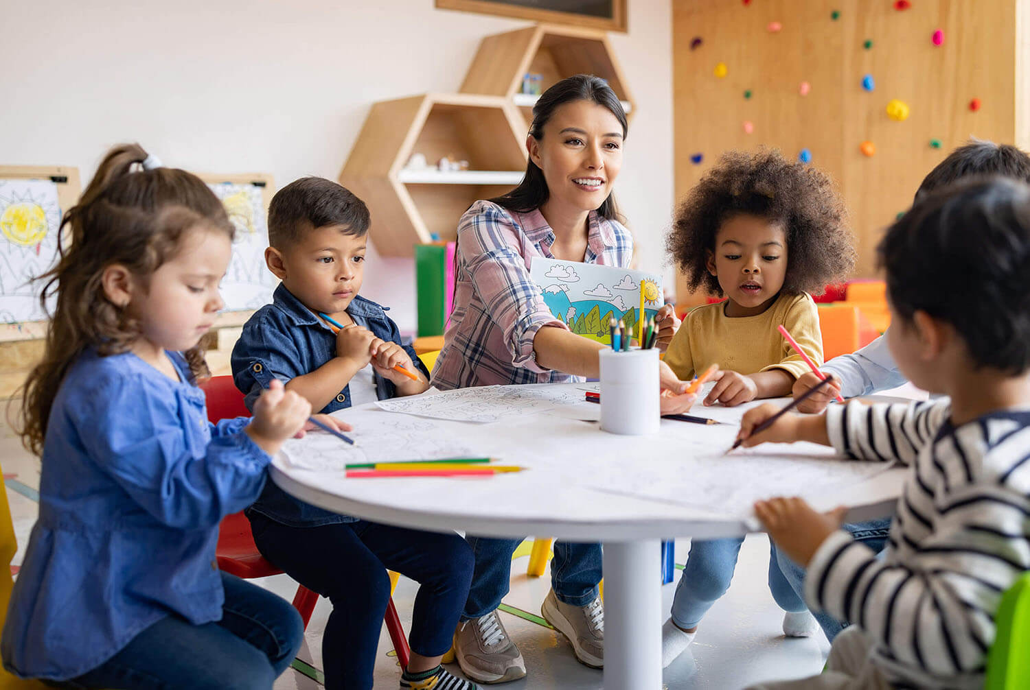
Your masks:
<instances>
[{"instance_id":1,"label":"woman's beige sneaker nearer the boy's striped sock","mask_svg":"<svg viewBox=\"0 0 1030 690\"><path fill-rule=\"evenodd\" d=\"M480 683L507 683L525 676L522 653L508 637L496 611L458 622L454 656L461 673Z\"/></svg>"}]
</instances>

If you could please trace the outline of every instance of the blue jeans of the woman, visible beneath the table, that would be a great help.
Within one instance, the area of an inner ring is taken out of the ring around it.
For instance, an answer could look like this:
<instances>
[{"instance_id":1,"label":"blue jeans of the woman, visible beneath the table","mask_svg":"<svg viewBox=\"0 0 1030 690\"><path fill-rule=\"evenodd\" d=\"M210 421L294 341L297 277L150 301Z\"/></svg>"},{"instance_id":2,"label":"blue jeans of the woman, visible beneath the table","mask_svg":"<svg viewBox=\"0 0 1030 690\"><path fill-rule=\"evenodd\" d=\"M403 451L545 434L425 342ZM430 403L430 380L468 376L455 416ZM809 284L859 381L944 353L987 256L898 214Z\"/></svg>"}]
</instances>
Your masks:
<instances>
[{"instance_id":1,"label":"blue jeans of the woman, visible beneath the table","mask_svg":"<svg viewBox=\"0 0 1030 690\"><path fill-rule=\"evenodd\" d=\"M512 554L521 539L488 539L467 536L476 568L472 574L469 601L461 620L490 613L508 593ZM586 606L597 597L600 582L600 544L554 542L551 560L551 588L554 595L571 606Z\"/></svg>"}]
</instances>

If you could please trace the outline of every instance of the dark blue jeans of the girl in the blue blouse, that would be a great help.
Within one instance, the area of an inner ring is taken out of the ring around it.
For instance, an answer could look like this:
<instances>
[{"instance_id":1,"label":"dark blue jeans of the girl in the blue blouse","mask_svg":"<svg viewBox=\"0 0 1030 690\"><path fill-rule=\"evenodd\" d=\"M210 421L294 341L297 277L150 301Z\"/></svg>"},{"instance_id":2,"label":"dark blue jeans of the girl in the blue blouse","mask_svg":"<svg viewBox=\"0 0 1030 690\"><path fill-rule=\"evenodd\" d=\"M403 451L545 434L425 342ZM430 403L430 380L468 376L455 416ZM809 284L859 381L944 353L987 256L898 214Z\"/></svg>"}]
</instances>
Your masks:
<instances>
[{"instance_id":1,"label":"dark blue jeans of the girl in the blue blouse","mask_svg":"<svg viewBox=\"0 0 1030 690\"><path fill-rule=\"evenodd\" d=\"M221 574L221 620L194 625L170 614L65 688L271 690L304 641L304 623L288 602Z\"/></svg>"}]
</instances>

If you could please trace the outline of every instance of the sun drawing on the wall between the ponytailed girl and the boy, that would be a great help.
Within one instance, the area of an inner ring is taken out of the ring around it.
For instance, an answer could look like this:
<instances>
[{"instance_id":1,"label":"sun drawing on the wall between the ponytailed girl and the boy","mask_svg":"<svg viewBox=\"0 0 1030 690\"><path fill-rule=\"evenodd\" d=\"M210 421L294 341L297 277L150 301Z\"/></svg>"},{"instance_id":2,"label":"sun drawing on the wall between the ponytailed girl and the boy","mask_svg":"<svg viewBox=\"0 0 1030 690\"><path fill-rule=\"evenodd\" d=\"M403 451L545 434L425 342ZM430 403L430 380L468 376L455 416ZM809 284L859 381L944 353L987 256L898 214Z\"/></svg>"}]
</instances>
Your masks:
<instances>
[{"instance_id":1,"label":"sun drawing on the wall between the ponytailed girl and the boy","mask_svg":"<svg viewBox=\"0 0 1030 690\"><path fill-rule=\"evenodd\" d=\"M268 224L263 187L236 182L209 182L236 228L233 256L221 281L226 308L253 310L272 301L279 280L265 265Z\"/></svg>"}]
</instances>

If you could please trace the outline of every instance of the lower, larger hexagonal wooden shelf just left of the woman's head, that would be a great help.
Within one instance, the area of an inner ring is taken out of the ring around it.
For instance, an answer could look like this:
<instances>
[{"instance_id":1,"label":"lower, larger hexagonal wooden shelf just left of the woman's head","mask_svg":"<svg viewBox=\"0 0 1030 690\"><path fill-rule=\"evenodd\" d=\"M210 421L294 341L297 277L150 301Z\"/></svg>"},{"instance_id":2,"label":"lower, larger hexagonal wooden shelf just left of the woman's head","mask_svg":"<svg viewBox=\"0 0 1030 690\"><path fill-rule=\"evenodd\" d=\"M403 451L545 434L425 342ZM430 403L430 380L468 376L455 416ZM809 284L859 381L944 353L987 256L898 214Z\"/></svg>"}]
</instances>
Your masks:
<instances>
[{"instance_id":1,"label":"lower, larger hexagonal wooden shelf just left of the woman's head","mask_svg":"<svg viewBox=\"0 0 1030 690\"><path fill-rule=\"evenodd\" d=\"M383 256L412 256L414 245L453 240L466 209L500 195L525 174L522 121L510 99L425 94L372 106L340 184L372 213L372 242ZM444 156L470 170L407 170L413 153L430 166Z\"/></svg>"}]
</instances>

